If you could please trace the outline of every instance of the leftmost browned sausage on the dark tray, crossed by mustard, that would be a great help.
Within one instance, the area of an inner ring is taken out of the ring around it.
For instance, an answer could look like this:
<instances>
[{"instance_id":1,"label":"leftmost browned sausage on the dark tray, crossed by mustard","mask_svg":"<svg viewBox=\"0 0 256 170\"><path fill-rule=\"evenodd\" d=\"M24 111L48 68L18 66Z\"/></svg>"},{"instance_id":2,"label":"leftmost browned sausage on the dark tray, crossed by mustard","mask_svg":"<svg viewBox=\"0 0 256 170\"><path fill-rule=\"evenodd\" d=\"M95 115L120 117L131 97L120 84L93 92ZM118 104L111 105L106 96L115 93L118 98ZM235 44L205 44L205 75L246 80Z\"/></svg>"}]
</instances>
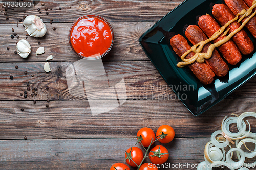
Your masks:
<instances>
[{"instance_id":1,"label":"leftmost browned sausage on the dark tray, crossed by mustard","mask_svg":"<svg viewBox=\"0 0 256 170\"><path fill-rule=\"evenodd\" d=\"M188 45L187 40L180 34L175 35L170 39L170 45L178 56L182 56L185 52L190 50L190 45ZM189 53L185 58L191 58L195 55L194 52ZM200 80L203 84L210 84L214 81L214 72L205 63L194 62L188 65L193 74Z\"/></svg>"}]
</instances>

